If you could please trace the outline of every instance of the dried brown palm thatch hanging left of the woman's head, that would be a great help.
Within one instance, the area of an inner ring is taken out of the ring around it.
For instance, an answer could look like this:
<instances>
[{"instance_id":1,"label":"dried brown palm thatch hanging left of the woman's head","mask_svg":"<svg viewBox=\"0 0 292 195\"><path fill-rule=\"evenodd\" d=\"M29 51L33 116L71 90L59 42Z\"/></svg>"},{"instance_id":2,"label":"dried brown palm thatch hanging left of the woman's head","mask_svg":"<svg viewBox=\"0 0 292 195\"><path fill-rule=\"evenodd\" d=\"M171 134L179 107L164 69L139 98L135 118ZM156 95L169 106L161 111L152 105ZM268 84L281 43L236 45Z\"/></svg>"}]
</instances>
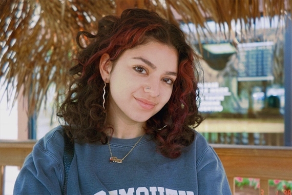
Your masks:
<instances>
[{"instance_id":1,"label":"dried brown palm thatch hanging left of the woman's head","mask_svg":"<svg viewBox=\"0 0 292 195\"><path fill-rule=\"evenodd\" d=\"M95 30L102 15L114 14L114 2L8 0L0 13L0 76L5 77L1 87L7 92L15 87L15 95L7 93L8 100L15 101L24 85L21 95L28 97L31 114L50 85L59 92L68 83L77 32Z\"/></svg>"}]
</instances>

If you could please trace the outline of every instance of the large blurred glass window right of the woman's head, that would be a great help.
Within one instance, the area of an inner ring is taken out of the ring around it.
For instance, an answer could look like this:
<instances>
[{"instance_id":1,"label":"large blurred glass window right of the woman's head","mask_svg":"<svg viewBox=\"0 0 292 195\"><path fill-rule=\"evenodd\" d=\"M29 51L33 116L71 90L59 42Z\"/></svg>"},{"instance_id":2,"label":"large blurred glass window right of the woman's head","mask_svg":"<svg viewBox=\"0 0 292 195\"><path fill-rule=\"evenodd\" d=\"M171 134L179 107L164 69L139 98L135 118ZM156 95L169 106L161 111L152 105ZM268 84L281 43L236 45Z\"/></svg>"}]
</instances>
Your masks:
<instances>
[{"instance_id":1,"label":"large blurred glass window right of the woman's head","mask_svg":"<svg viewBox=\"0 0 292 195\"><path fill-rule=\"evenodd\" d=\"M203 57L199 110L206 120L196 130L210 143L284 145L284 19L261 17L248 30L240 24L229 33L210 21L212 36L181 25L201 42L193 41Z\"/></svg>"}]
</instances>

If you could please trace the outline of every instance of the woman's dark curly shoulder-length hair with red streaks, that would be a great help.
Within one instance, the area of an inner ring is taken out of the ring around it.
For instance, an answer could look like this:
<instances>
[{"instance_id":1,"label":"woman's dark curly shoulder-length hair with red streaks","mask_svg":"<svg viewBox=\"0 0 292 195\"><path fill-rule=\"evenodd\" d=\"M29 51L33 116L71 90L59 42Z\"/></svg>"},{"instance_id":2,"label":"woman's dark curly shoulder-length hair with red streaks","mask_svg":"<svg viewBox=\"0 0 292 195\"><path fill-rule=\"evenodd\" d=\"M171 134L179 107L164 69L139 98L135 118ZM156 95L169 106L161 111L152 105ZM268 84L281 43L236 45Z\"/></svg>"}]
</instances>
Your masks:
<instances>
[{"instance_id":1,"label":"woman's dark curly shoulder-length hair with red streaks","mask_svg":"<svg viewBox=\"0 0 292 195\"><path fill-rule=\"evenodd\" d=\"M85 48L79 41L81 35L91 40ZM85 143L108 142L106 113L102 108L104 83L99 71L100 57L108 53L110 61L116 62L127 49L150 41L176 49L178 76L169 102L147 121L145 133L151 135L157 151L168 158L178 158L182 149L194 141L195 132L190 126L198 126L203 120L197 104L197 55L185 42L179 27L143 9L124 10L120 17L103 17L96 35L85 31L78 33L77 44L82 51L77 58L78 64L69 71L74 80L58 112L68 125L66 133L71 139Z\"/></svg>"}]
</instances>

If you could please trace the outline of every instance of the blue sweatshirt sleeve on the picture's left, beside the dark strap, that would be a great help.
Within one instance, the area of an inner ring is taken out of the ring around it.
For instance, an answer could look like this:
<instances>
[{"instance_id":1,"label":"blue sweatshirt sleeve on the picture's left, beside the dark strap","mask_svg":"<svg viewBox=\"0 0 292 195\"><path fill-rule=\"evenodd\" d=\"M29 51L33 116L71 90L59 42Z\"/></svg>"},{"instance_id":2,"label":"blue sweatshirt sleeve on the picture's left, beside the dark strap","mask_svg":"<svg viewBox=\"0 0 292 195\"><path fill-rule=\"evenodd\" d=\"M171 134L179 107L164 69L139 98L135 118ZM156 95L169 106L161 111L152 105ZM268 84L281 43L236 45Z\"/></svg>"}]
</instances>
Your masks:
<instances>
[{"instance_id":1,"label":"blue sweatshirt sleeve on the picture's left, beside the dark strap","mask_svg":"<svg viewBox=\"0 0 292 195\"><path fill-rule=\"evenodd\" d=\"M64 138L52 130L33 147L14 185L13 194L61 194L64 181Z\"/></svg>"}]
</instances>

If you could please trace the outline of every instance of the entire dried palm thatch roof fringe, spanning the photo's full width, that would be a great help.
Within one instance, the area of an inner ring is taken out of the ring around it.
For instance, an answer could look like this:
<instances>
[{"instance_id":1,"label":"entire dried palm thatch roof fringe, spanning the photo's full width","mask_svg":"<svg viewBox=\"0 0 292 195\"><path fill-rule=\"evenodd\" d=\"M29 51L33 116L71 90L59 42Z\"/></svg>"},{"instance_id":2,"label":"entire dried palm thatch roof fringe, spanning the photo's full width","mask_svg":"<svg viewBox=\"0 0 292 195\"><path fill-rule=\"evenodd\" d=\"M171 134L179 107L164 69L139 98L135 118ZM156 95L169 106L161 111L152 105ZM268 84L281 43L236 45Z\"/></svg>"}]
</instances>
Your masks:
<instances>
[{"instance_id":1,"label":"entire dried palm thatch roof fringe, spanning the photo's full width","mask_svg":"<svg viewBox=\"0 0 292 195\"><path fill-rule=\"evenodd\" d=\"M292 7L292 0L1 1L0 87L6 88L11 102L18 95L28 97L29 113L39 109L50 85L56 86L57 94L65 89L70 80L67 70L78 51L77 32L95 32L96 21L103 15L135 6L157 11L172 21L191 22L197 29L207 29L206 20L212 19L231 30L234 19L241 19L242 29L248 29L251 18L283 16Z\"/></svg>"}]
</instances>

